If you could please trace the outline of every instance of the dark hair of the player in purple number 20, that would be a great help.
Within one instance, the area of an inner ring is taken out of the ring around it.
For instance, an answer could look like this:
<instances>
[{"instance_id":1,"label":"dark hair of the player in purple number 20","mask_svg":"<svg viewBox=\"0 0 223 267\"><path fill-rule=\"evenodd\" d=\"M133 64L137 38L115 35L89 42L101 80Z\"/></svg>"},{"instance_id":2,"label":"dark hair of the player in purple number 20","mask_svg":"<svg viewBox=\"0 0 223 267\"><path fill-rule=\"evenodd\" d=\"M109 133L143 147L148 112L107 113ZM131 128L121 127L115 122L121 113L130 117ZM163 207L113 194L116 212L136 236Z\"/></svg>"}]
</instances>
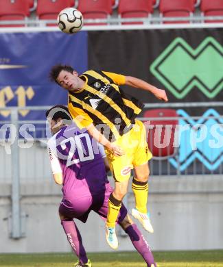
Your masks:
<instances>
[{"instance_id":1,"label":"dark hair of the player in purple number 20","mask_svg":"<svg viewBox=\"0 0 223 267\"><path fill-rule=\"evenodd\" d=\"M46 118L50 117L52 120L58 120L58 118L62 118L62 120L72 120L68 107L65 105L54 105L54 107L47 110L45 115Z\"/></svg>"}]
</instances>

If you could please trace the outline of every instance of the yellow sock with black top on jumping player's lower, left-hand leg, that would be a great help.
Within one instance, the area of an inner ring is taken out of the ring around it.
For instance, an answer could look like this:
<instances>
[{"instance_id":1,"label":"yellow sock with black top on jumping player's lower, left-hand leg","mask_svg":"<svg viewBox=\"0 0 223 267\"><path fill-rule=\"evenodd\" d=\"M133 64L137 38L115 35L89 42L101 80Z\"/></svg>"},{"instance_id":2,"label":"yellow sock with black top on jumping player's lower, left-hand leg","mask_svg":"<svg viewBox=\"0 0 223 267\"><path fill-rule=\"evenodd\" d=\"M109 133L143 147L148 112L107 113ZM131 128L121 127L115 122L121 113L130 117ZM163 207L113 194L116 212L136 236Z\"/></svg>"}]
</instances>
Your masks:
<instances>
[{"instance_id":1,"label":"yellow sock with black top on jumping player's lower, left-hand leg","mask_svg":"<svg viewBox=\"0 0 223 267\"><path fill-rule=\"evenodd\" d=\"M113 196L113 194L110 194L108 200L108 216L106 222L106 225L108 227L115 227L115 222L119 215L120 208L121 208L121 201L115 199L115 196Z\"/></svg>"}]
</instances>

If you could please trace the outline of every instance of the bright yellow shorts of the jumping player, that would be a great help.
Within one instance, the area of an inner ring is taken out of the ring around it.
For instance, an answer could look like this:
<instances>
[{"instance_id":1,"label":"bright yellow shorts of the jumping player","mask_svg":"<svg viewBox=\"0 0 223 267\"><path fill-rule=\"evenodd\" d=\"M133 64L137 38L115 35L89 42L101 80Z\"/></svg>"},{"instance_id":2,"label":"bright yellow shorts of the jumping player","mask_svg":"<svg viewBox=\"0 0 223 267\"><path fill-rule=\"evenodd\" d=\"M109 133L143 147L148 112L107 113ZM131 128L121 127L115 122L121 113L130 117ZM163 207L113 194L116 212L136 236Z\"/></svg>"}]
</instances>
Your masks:
<instances>
[{"instance_id":1,"label":"bright yellow shorts of the jumping player","mask_svg":"<svg viewBox=\"0 0 223 267\"><path fill-rule=\"evenodd\" d=\"M132 129L114 143L125 151L124 155L117 157L106 149L110 170L116 181L128 180L135 166L146 164L152 157L148 149L145 126L140 120L136 120Z\"/></svg>"}]
</instances>

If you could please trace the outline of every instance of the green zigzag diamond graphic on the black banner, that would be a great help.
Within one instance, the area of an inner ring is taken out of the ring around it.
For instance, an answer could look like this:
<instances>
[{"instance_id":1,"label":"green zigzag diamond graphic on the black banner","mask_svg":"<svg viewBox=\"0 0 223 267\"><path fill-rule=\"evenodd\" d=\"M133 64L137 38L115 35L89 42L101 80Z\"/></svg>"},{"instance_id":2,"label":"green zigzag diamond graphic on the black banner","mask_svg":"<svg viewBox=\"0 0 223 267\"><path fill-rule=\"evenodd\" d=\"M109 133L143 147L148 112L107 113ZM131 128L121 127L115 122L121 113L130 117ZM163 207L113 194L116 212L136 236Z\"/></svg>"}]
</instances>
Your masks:
<instances>
[{"instance_id":1,"label":"green zigzag diamond graphic on the black banner","mask_svg":"<svg viewBox=\"0 0 223 267\"><path fill-rule=\"evenodd\" d=\"M205 38L196 49L176 38L150 71L178 99L193 88L211 99L223 88L223 47L212 37Z\"/></svg>"}]
</instances>

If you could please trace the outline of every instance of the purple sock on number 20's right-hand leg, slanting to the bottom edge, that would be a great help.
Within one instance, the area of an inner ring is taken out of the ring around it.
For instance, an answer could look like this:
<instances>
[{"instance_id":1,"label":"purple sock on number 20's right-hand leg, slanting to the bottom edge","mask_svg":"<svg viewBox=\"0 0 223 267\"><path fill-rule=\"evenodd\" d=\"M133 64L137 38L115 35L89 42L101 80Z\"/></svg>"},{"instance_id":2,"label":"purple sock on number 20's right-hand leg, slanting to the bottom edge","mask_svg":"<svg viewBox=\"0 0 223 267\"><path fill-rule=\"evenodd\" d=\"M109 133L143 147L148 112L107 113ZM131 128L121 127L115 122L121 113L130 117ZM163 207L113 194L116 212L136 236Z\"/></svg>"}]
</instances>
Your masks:
<instances>
[{"instance_id":1,"label":"purple sock on number 20's right-hand leg, slanting to the bottom edge","mask_svg":"<svg viewBox=\"0 0 223 267\"><path fill-rule=\"evenodd\" d=\"M133 224L127 227L126 233L130 237L133 246L137 249L143 259L145 259L147 266L150 267L151 264L154 264L154 266L156 267L156 263L154 262L154 257L152 255L152 251L150 250L150 246L143 237L143 234L139 231L137 225Z\"/></svg>"}]
</instances>

